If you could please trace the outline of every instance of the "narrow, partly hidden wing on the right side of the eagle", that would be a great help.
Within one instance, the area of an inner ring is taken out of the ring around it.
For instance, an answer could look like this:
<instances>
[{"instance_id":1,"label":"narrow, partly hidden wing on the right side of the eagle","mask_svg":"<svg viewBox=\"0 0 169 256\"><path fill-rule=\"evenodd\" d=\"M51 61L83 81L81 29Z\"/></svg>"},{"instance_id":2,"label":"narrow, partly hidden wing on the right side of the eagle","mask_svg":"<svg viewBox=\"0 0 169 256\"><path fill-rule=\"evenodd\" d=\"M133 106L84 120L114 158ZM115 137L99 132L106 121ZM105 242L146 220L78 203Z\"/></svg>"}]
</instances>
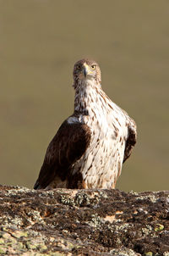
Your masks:
<instances>
[{"instance_id":1,"label":"narrow, partly hidden wing on the right side of the eagle","mask_svg":"<svg viewBox=\"0 0 169 256\"><path fill-rule=\"evenodd\" d=\"M129 118L128 138L127 138L126 147L124 150L123 163L129 158L130 154L132 153L132 150L134 148L136 141L137 141L136 124L135 124L134 120Z\"/></svg>"}]
</instances>

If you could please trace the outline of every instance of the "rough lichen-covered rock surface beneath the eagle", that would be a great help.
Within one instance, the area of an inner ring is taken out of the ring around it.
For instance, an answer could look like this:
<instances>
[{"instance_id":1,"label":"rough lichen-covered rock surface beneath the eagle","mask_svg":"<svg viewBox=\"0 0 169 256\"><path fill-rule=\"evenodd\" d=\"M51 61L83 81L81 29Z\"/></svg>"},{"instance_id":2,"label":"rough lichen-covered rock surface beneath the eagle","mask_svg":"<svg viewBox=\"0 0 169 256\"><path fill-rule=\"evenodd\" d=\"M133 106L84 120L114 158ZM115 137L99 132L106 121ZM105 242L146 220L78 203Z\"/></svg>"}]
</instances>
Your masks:
<instances>
[{"instance_id":1,"label":"rough lichen-covered rock surface beneath the eagle","mask_svg":"<svg viewBox=\"0 0 169 256\"><path fill-rule=\"evenodd\" d=\"M2 255L169 256L169 192L0 186Z\"/></svg>"}]
</instances>

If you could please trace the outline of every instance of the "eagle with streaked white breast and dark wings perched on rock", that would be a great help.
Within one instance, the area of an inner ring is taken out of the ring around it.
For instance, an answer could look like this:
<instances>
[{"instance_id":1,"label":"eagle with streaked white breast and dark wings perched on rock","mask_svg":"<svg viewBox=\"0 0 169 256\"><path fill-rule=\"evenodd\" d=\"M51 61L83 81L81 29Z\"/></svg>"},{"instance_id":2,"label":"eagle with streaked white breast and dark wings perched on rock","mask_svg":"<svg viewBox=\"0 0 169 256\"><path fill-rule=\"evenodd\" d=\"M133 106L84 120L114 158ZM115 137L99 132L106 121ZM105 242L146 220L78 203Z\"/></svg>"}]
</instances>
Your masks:
<instances>
[{"instance_id":1,"label":"eagle with streaked white breast and dark wings perched on rock","mask_svg":"<svg viewBox=\"0 0 169 256\"><path fill-rule=\"evenodd\" d=\"M74 64L74 114L46 149L34 189L114 189L137 140L135 121L101 87L99 64Z\"/></svg>"}]
</instances>

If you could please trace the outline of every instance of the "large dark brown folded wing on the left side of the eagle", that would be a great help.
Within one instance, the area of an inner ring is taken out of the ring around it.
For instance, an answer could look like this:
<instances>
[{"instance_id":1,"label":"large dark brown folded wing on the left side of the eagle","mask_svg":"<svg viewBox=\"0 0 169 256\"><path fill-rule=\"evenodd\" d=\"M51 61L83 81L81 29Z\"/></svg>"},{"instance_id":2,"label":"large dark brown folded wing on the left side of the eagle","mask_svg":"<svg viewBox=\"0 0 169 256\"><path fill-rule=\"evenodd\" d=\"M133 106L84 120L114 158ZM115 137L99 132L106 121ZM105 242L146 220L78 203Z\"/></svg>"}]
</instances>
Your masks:
<instances>
[{"instance_id":1,"label":"large dark brown folded wing on the left side of the eagle","mask_svg":"<svg viewBox=\"0 0 169 256\"><path fill-rule=\"evenodd\" d=\"M65 180L68 169L85 153L90 144L90 128L71 116L63 122L46 150L35 189L46 188L58 175Z\"/></svg>"}]
</instances>

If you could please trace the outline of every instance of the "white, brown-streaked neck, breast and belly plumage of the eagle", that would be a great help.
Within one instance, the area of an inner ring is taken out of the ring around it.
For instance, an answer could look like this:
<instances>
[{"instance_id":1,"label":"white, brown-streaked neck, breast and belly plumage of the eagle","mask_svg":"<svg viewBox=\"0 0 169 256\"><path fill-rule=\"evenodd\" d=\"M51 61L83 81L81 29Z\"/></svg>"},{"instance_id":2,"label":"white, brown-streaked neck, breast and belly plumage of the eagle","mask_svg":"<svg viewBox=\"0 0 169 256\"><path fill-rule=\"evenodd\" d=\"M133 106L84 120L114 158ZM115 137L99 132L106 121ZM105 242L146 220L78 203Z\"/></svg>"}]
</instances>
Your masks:
<instances>
[{"instance_id":1,"label":"white, brown-streaked neck, breast and belly plumage of the eagle","mask_svg":"<svg viewBox=\"0 0 169 256\"><path fill-rule=\"evenodd\" d=\"M85 188L114 188L122 170L128 125L135 131L134 120L112 103L101 85L88 81L80 87L84 89L77 90L74 110L82 113L79 122L90 127L91 141L72 175L81 172Z\"/></svg>"}]
</instances>

